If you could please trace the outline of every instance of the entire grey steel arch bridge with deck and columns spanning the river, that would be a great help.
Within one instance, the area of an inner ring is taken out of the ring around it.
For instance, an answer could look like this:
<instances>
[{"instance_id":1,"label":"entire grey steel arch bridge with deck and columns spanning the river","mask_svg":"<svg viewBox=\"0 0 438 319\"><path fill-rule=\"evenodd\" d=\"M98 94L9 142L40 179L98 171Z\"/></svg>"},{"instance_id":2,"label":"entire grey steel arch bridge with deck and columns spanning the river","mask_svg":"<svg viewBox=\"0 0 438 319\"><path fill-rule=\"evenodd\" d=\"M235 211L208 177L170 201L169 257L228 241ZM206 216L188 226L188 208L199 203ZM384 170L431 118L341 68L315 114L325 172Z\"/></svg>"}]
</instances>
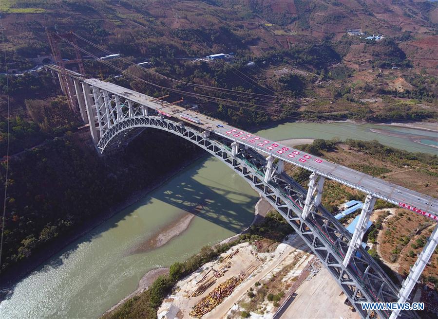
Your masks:
<instances>
[{"instance_id":1,"label":"entire grey steel arch bridge with deck and columns spanning the river","mask_svg":"<svg viewBox=\"0 0 438 319\"><path fill-rule=\"evenodd\" d=\"M369 220L376 198L388 198L387 201L394 202L391 197L388 197L390 195L370 193L360 183L350 183L350 185L340 181L368 194L362 207L358 226L351 235L321 205L325 176L337 181L339 180L338 176L331 175L331 173L324 176L319 174L319 171L313 170L308 183L309 187L306 190L284 172L284 160L279 159L278 155L274 156L271 153L265 158L259 147L250 147L245 140L238 141L232 137L235 134L230 136L229 133L239 129L230 128L226 123L220 124L222 122L201 114L198 115L203 123L196 123L195 121L200 121L198 116L193 115L193 112L190 112L189 120L181 121L178 114L183 111L187 112L187 110L175 106L174 103L168 104L159 99L103 81L84 79L77 73L59 70L54 66L49 67L49 69L62 73L61 76L70 77L71 81L74 82L80 114L83 120L90 124L92 139L100 153L129 142L144 128L161 129L195 143L224 162L267 199L329 270L362 318L373 316L372 311L362 309L363 302L404 302L408 300L419 275L437 247L438 226L435 227L428 244L400 289L361 245L366 231L364 225ZM188 115L187 113L183 114ZM218 127L224 129L216 130L212 126L206 125L216 123ZM228 129L229 131L227 131ZM239 135L239 137L241 136L244 135ZM246 136L251 138L250 134ZM254 139L256 138L254 137ZM276 143L272 145L282 146ZM265 150L263 151L267 153ZM279 152L277 151L277 153ZM311 156L305 155L304 158L294 164L309 169L303 163ZM323 159L315 159L317 163L320 160ZM404 191L403 188L401 189ZM399 190L397 192L401 193ZM395 193L394 190L392 193ZM429 198L427 200L429 200L429 208L438 206L436 200ZM435 219L434 211L429 210L425 213L429 213L429 217ZM380 318L418 317L412 311L376 310L376 312Z\"/></svg>"}]
</instances>

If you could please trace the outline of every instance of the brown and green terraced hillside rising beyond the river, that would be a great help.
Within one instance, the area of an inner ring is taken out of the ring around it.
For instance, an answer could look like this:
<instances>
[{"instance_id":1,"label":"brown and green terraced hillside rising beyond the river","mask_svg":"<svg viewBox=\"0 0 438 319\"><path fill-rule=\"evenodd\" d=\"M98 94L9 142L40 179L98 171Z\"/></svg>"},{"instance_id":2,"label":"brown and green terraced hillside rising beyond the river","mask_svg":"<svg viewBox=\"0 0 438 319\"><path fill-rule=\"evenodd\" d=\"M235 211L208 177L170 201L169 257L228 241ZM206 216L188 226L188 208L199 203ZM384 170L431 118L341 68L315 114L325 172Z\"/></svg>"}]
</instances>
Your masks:
<instances>
[{"instance_id":1,"label":"brown and green terraced hillside rising beyond the river","mask_svg":"<svg viewBox=\"0 0 438 319\"><path fill-rule=\"evenodd\" d=\"M385 122L437 117L437 46L431 45L437 37L436 3L10 0L2 6L6 12L3 45L10 72L28 70L38 55L50 54L46 28L60 33L73 30L131 61L150 59L152 71L165 76L226 89L275 92L275 100L245 100L246 105L253 105L249 112L237 102L220 106L188 100L212 116L244 127L297 119ZM349 29L385 38L365 40L347 35ZM78 45L88 52L84 56L106 54L83 41ZM225 64L190 61L219 52L233 52L235 58ZM71 57L71 48L65 47L63 55ZM248 61L254 61L254 67L248 67ZM118 74L111 67L86 62L90 76L114 81L111 76ZM0 68L5 71L3 61ZM145 72L133 72L157 81ZM119 84L160 94L124 78ZM52 89L39 89L49 87L47 81L34 83L38 81L11 80L14 115L26 118L25 99L56 97ZM213 94L208 90L197 93ZM232 99L223 92L214 94ZM0 96L2 106L4 101ZM250 116L260 106L265 114Z\"/></svg>"}]
</instances>

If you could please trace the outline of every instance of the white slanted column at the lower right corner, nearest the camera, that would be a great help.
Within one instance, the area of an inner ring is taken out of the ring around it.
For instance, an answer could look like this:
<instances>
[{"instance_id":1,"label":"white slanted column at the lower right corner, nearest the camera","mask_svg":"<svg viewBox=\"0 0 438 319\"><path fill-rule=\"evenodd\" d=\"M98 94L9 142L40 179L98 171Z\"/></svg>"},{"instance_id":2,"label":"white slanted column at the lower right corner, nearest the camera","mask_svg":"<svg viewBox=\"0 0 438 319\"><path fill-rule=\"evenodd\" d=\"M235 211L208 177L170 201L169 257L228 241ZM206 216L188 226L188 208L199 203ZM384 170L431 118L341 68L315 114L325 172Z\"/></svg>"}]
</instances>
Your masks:
<instances>
[{"instance_id":1,"label":"white slanted column at the lower right corner, nearest the camera","mask_svg":"<svg viewBox=\"0 0 438 319\"><path fill-rule=\"evenodd\" d=\"M412 267L408 277L406 278L405 281L403 281L403 284L401 285L401 289L399 292L398 302L405 302L408 300L409 295L414 289L415 284L418 283L420 275L423 272L424 267L427 265L430 258L432 257L432 254L437 248L437 245L438 245L438 223L437 225L435 225L434 231L432 232L429 239L427 240L426 246L424 246L423 250L419 254L419 257L415 262L414 266ZM400 315L400 309L394 310L391 313L391 316L389 316L389 319L396 319L399 315Z\"/></svg>"}]
</instances>

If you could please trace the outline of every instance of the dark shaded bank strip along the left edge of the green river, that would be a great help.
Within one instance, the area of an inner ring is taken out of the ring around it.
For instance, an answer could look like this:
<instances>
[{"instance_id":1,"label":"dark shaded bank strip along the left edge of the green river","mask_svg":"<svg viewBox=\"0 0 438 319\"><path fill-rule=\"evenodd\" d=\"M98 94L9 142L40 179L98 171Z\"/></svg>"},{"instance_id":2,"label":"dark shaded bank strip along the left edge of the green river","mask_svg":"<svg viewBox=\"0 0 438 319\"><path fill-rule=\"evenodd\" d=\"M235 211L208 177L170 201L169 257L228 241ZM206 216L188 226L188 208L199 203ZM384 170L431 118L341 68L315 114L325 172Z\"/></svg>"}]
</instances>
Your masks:
<instances>
[{"instance_id":1,"label":"dark shaded bank strip along the left edge of the green river","mask_svg":"<svg viewBox=\"0 0 438 319\"><path fill-rule=\"evenodd\" d=\"M74 243L77 239L81 238L88 232L94 230L96 227L102 225L105 221L113 217L116 213L119 213L122 210L135 204L141 198L143 198L153 190L159 188L161 185L166 183L174 175L184 171L186 167L188 167L190 164L205 156L206 156L205 153L201 153L190 160L186 160L182 162L177 169L169 171L165 176L160 177L161 179L151 183L151 185L149 185L148 187L133 193L121 203L110 208L108 211L101 212L97 214L95 217L91 217L90 219L87 220L86 224L79 226L74 234L71 234L62 240L47 245L45 250L41 252L40 255L33 262L30 262L23 266L21 265L16 266L14 269L11 269L1 274L0 289L5 289L5 290L10 289L11 286L13 286L14 284L18 283L21 279L28 276L35 269L37 269L47 260L52 258L54 255L56 255L59 251L66 248L68 245ZM4 278L7 278L7 280L4 280ZM0 301L3 300L3 298L4 297L0 295Z\"/></svg>"}]
</instances>

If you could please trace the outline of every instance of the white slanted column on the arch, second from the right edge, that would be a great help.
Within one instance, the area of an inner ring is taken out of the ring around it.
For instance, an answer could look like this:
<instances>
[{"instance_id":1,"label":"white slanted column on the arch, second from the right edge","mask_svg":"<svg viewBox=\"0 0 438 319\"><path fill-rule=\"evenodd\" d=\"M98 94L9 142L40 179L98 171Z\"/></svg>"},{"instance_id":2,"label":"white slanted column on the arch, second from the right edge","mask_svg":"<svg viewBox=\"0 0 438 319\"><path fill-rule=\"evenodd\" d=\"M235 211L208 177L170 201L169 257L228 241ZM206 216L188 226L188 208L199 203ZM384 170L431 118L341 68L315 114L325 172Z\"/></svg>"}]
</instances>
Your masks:
<instances>
[{"instance_id":1,"label":"white slanted column on the arch, second from the right edge","mask_svg":"<svg viewBox=\"0 0 438 319\"><path fill-rule=\"evenodd\" d=\"M370 216L373 213L374 204L376 203L376 197L371 195L367 195L365 198L365 202L362 206L362 212L359 216L358 223L356 224L356 228L354 230L353 236L351 237L350 242L348 243L348 250L343 259L343 266L348 266L350 263L351 257L356 252L356 249L359 248L362 244L363 235L366 231L366 225L370 220Z\"/></svg>"}]
</instances>

